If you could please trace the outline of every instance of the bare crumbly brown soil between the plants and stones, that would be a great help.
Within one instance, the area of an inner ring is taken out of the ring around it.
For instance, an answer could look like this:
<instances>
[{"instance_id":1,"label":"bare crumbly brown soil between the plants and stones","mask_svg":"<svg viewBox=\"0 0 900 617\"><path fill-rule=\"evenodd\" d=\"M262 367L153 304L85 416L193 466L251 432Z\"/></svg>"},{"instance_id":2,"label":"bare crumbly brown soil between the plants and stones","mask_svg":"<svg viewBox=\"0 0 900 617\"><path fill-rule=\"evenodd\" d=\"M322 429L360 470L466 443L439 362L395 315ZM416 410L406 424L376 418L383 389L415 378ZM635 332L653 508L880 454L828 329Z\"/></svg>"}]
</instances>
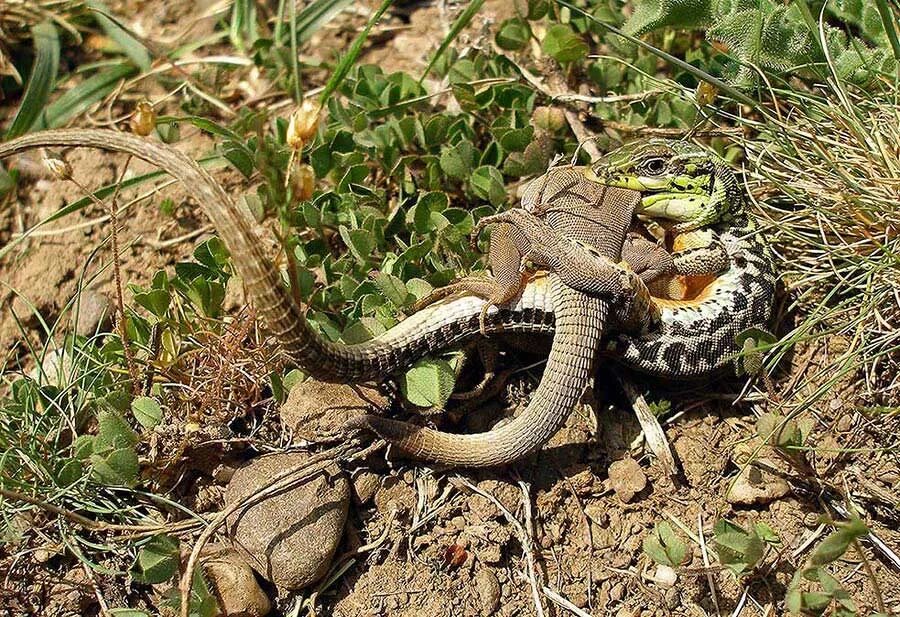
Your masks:
<instances>
[{"instance_id":1,"label":"bare crumbly brown soil between the plants and stones","mask_svg":"<svg viewBox=\"0 0 900 617\"><path fill-rule=\"evenodd\" d=\"M509 11L504 2L487 4L480 25L485 19L502 19ZM181 24L204 12L203 6L189 6L138 2L125 14L134 16L138 32L167 41L180 34ZM374 37L362 61L376 62L387 71L421 71L428 50L443 34L435 24L445 26L452 18L446 10L444 3L425 3L398 11ZM308 49L322 53L346 45L363 19L353 11L342 15ZM210 27L209 20L199 22L198 27ZM472 36L477 38L477 29ZM149 89L144 94L161 93ZM189 131L179 142L180 148L197 157L210 145L207 137ZM114 181L125 165L124 157L85 150L68 153L67 160L74 176L87 187ZM26 188L20 191L18 201L0 213L0 241L4 244L84 195L76 186L49 179L37 153L16 164L27 177ZM131 162L127 173L147 170L143 164ZM226 171L216 172L216 176L234 194L250 188ZM166 198L175 204L172 215L159 207ZM120 217L123 250L119 263L125 281L147 284L157 269L171 268L188 257L209 234L208 221L192 202L189 188L173 185L143 197L125 192L120 204L125 210ZM71 327L72 311L66 307L79 290L92 289L112 297L109 231L106 210L92 205L42 227L0 262L0 352L6 371L31 368L23 330L32 343L40 343L47 336L41 322L60 320L57 331ZM238 294L233 302L236 310L239 300ZM797 349L778 376L774 394L799 375L813 371L829 354L837 353L839 344L832 341L829 348ZM518 360L514 352L505 359L510 365ZM524 392L539 376L540 368L518 374L499 406L506 413L520 409L527 400ZM534 615L529 556L543 585L582 610L580 614L732 614L739 605L744 605L742 615L768 614L764 607L783 598L794 567L802 564L806 553L799 549L828 533L827 527L820 526L819 515L824 510L817 495L794 490L777 473L740 472L740 453L755 445L756 421L752 403L732 406L729 402L728 395L735 394L741 384L716 385L702 396L668 397L677 413L664 428L681 465L673 480L638 439L640 427L634 414L617 388L607 385L614 381L612 375L601 373L596 388L601 400L581 407L540 454L515 468L435 471L377 457L355 472L354 479L375 479L371 490L357 495L361 503L351 508L341 551L362 545L369 548L324 591L320 614ZM868 522L898 550L900 526L892 505L883 509L868 505L900 491L896 455L900 426L896 418L859 413L859 397L849 383L838 383L821 404L802 415L814 423L811 443L816 447L805 460L813 475L830 486L873 496L863 504L870 515ZM718 398L723 400L715 400ZM271 401L260 404L272 406ZM765 405L758 404L758 409L765 411ZM462 424L472 428L485 421L474 414ZM277 433L277 424L272 431ZM241 450L238 458L251 454L250 449ZM771 452L764 454L763 460L786 477L798 475ZM619 477L615 465L628 472L627 481ZM642 477L645 486L632 495L628 484L640 484ZM206 477L198 480L195 492L203 482L216 485ZM736 491L740 493L737 496ZM213 491L206 509L221 506L219 495L220 491ZM712 549L704 550L690 536L702 536L705 544L710 543L712 525L721 517L743 526L765 522L775 529L782 540L780 559L773 554L768 563L777 566L741 582L718 567L709 567L710 560L715 563ZM642 550L645 536L661 521L672 523L691 550L674 584L660 580L656 564ZM871 549L866 548L865 555L888 611L900 614L898 573ZM848 553L833 572L860 603L860 614L877 609L876 593L859 555ZM48 608L46 614L66 614L65 607L72 606L57 600L50 603L55 608ZM544 602L545 607L550 606ZM278 606L286 611L289 604ZM567 614L559 606L546 610L548 614ZM88 609L92 611L96 607ZM572 614L579 613L572 609Z\"/></svg>"}]
</instances>

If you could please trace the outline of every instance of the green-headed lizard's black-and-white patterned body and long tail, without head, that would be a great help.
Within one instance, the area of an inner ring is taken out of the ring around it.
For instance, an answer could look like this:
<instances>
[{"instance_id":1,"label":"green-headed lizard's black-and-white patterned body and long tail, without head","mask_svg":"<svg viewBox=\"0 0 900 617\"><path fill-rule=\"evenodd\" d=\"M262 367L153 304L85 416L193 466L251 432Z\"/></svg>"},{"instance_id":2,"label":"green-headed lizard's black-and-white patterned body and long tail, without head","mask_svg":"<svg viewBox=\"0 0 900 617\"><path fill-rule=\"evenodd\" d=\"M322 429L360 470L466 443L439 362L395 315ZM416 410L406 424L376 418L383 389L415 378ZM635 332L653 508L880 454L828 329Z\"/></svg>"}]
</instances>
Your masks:
<instances>
[{"instance_id":1,"label":"green-headed lizard's black-and-white patterned body and long tail, without head","mask_svg":"<svg viewBox=\"0 0 900 617\"><path fill-rule=\"evenodd\" d=\"M249 216L186 155L149 140L106 130L46 131L0 144L0 159L35 147L91 146L145 160L185 182L234 255L248 296L268 329L293 361L318 379L336 382L382 380L425 355L477 336L485 301L452 298L433 304L388 332L359 345L325 341L307 324L282 287L278 273L256 239ZM740 186L723 165L714 165L712 182L727 192ZM714 188L716 188L714 186ZM648 189L645 189L648 190ZM742 200L739 201L742 207ZM771 316L775 274L752 221L738 211L730 224L713 226L731 263L724 274L685 302L658 301L661 323L653 333L614 336L606 349L632 368L670 378L704 377L728 366L739 352L735 336L765 328ZM536 277L511 303L491 307L488 333L552 334L559 293L547 277ZM466 464L461 462L459 464Z\"/></svg>"}]
</instances>

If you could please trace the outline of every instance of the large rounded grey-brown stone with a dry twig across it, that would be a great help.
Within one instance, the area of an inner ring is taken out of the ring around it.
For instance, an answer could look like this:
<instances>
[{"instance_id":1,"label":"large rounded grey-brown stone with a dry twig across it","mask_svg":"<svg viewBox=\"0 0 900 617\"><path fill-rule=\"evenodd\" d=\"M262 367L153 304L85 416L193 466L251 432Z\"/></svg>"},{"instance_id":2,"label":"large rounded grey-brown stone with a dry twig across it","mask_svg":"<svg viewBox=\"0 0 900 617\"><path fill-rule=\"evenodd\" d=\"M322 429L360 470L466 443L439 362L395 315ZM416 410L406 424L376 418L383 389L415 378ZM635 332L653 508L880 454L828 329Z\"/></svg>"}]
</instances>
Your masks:
<instances>
[{"instance_id":1,"label":"large rounded grey-brown stone with a dry twig across it","mask_svg":"<svg viewBox=\"0 0 900 617\"><path fill-rule=\"evenodd\" d=\"M259 493L272 478L303 463L303 453L260 457L238 469L225 491L230 506ZM344 533L350 486L335 464L300 485L239 508L226 520L235 550L263 578L302 589L328 571Z\"/></svg>"}]
</instances>

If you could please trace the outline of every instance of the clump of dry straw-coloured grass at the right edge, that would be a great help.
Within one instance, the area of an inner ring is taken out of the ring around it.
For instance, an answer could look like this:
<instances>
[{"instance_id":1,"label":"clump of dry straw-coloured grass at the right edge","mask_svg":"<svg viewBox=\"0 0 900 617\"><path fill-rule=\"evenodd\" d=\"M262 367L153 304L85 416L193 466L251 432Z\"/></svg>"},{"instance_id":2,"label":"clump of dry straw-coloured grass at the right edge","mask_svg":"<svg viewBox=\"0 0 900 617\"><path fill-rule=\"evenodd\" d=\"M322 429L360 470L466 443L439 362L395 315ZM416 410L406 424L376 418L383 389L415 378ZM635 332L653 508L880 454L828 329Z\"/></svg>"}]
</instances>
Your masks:
<instances>
[{"instance_id":1,"label":"clump of dry straw-coloured grass at the right edge","mask_svg":"<svg viewBox=\"0 0 900 617\"><path fill-rule=\"evenodd\" d=\"M819 374L807 408L837 380L860 380L860 403L900 405L900 89L830 81L779 90L766 123L744 144L751 192L770 223L800 323L786 338L849 342ZM787 199L784 199L786 197ZM773 354L777 361L787 346ZM774 362L773 362L774 363Z\"/></svg>"}]
</instances>

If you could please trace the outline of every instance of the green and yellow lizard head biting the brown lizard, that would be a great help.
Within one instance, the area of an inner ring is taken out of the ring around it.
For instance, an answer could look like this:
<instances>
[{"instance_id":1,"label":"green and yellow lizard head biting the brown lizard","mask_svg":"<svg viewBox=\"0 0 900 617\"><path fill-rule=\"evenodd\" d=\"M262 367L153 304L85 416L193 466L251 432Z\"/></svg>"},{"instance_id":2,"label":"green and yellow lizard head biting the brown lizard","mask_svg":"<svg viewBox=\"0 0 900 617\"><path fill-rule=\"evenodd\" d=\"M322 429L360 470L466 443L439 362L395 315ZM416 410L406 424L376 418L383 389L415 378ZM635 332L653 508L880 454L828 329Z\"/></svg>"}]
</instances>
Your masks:
<instances>
[{"instance_id":1,"label":"green and yellow lizard head biting the brown lizard","mask_svg":"<svg viewBox=\"0 0 900 617\"><path fill-rule=\"evenodd\" d=\"M592 165L587 176L640 191L638 213L672 221L678 232L731 220L743 207L741 187L725 163L685 141L626 144Z\"/></svg>"}]
</instances>

